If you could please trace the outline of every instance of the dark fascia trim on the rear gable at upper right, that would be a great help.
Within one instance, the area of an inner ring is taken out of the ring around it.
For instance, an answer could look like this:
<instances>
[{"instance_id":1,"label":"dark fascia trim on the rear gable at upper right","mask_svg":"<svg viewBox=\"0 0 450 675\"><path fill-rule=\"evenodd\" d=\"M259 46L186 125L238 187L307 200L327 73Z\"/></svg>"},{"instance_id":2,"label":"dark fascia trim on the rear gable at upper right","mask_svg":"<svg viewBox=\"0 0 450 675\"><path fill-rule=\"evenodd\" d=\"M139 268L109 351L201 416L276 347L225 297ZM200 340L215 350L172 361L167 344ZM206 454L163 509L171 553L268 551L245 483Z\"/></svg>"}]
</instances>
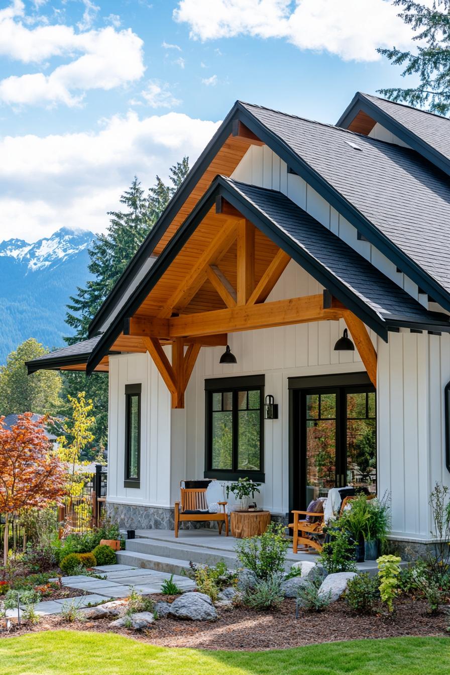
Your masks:
<instances>
[{"instance_id":1,"label":"dark fascia trim on the rear gable at upper right","mask_svg":"<svg viewBox=\"0 0 450 675\"><path fill-rule=\"evenodd\" d=\"M374 97L379 98L379 97ZM381 101L386 101L387 99L380 99ZM389 103L395 104L395 101L389 101ZM397 104L401 105L401 104ZM410 108L411 110L417 110L412 106L404 106ZM345 130L349 127L351 122L355 119L359 111L366 113L369 117L372 117L374 121L384 126L391 134L394 134L400 140L403 140L404 143L409 145L413 150L415 150L419 155L428 159L434 166L437 166L441 171L450 175L450 162L440 153L436 148L427 143L423 138L414 134L411 130L407 129L403 124L401 124L397 119L394 119L386 111L378 107L376 103L371 101L366 94L362 92L356 92L351 103L347 106L345 111L343 111L341 117L336 122L336 126L341 127ZM420 112L426 113L427 111L421 110ZM432 114L432 113L428 113ZM440 115L434 115L435 117L440 117ZM444 118L447 119L447 118Z\"/></svg>"}]
</instances>

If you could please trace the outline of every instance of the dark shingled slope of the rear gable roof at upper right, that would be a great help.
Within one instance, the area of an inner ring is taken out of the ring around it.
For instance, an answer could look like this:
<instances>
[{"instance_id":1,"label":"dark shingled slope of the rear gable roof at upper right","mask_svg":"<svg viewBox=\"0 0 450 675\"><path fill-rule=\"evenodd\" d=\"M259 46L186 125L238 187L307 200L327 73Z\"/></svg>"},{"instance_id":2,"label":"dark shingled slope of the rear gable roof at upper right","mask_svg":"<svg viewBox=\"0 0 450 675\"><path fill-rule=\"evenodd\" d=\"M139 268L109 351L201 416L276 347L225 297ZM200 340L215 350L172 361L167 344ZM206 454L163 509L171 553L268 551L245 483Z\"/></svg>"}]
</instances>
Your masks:
<instances>
[{"instance_id":1,"label":"dark shingled slope of the rear gable roof at upper right","mask_svg":"<svg viewBox=\"0 0 450 675\"><path fill-rule=\"evenodd\" d=\"M403 103L393 103L393 101L380 99L371 94L361 93L360 96L376 105L386 115L395 119L409 132L450 160L450 119L448 117L434 115L434 113L428 113Z\"/></svg>"}]
</instances>

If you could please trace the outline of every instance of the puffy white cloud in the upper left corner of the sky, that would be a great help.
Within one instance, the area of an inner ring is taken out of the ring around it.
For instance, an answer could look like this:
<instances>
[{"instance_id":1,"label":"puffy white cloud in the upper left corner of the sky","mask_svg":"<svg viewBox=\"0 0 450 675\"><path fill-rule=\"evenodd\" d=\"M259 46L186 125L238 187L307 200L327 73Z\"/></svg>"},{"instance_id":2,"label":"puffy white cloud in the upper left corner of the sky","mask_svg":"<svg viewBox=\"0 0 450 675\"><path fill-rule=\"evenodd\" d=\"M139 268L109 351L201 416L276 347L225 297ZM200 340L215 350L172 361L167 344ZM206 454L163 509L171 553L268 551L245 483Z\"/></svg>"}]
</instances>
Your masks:
<instances>
[{"instance_id":1,"label":"puffy white cloud in the upper left corner of the sky","mask_svg":"<svg viewBox=\"0 0 450 675\"><path fill-rule=\"evenodd\" d=\"M85 2L84 20L96 5ZM88 15L86 15L86 11ZM86 16L85 16L86 15ZM10 76L0 81L0 100L11 105L79 105L89 89L111 89L138 80L144 74L142 40L112 26L75 32L55 24L27 28L23 3L0 11L0 55L22 63L43 63L51 57L69 57L49 75L43 72Z\"/></svg>"}]
</instances>

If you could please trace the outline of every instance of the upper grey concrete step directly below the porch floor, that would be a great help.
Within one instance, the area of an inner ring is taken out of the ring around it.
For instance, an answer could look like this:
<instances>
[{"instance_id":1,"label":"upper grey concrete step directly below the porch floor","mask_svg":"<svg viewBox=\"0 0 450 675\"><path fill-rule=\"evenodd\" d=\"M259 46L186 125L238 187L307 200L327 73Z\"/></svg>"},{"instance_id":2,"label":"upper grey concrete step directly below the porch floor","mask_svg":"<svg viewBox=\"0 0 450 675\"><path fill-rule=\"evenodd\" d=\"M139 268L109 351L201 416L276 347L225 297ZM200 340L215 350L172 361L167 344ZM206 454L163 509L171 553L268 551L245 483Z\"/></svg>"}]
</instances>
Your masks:
<instances>
[{"instance_id":1,"label":"upper grey concrete step directly below the porch floor","mask_svg":"<svg viewBox=\"0 0 450 675\"><path fill-rule=\"evenodd\" d=\"M127 553L146 553L157 558L170 558L175 560L192 560L192 562L215 565L225 560L231 569L237 567L237 558L233 551L224 551L208 545L196 546L186 542L177 543L161 541L158 539L128 539L125 543Z\"/></svg>"}]
</instances>

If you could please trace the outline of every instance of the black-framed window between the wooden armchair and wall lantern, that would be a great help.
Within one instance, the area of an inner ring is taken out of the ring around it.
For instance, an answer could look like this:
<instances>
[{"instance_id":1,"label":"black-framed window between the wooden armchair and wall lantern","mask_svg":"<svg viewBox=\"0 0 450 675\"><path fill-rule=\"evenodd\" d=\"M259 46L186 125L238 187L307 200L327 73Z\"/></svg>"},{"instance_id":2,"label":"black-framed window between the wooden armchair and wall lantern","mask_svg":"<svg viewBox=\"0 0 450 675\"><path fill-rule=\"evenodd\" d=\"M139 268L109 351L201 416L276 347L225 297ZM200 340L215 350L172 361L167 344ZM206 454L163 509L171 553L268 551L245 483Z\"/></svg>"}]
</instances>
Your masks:
<instances>
[{"instance_id":1,"label":"black-framed window between the wooden armchair and wall lantern","mask_svg":"<svg viewBox=\"0 0 450 675\"><path fill-rule=\"evenodd\" d=\"M205 381L205 478L264 481L264 375Z\"/></svg>"}]
</instances>

